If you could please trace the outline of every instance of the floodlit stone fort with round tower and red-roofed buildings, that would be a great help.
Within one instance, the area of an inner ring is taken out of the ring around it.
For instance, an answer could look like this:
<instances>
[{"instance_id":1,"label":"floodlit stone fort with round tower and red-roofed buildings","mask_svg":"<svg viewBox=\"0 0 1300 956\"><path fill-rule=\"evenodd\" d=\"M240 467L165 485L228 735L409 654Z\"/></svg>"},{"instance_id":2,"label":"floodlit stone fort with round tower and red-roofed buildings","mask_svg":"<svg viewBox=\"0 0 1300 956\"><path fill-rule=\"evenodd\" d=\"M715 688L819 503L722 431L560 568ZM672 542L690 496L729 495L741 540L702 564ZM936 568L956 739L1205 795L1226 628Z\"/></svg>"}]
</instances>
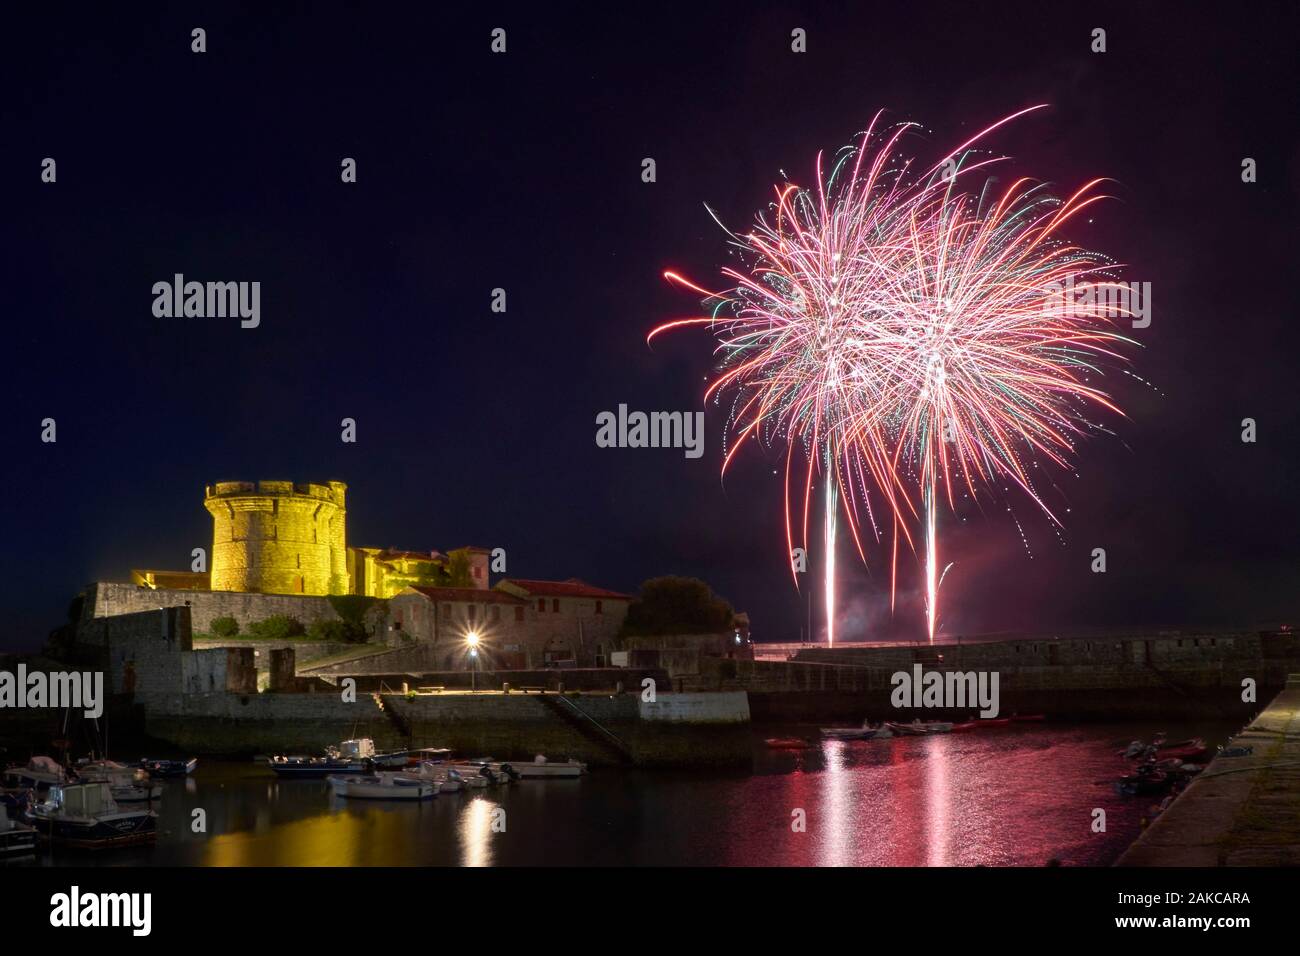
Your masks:
<instances>
[{"instance_id":1,"label":"floodlit stone fort with round tower and red-roofed buildings","mask_svg":"<svg viewBox=\"0 0 1300 956\"><path fill-rule=\"evenodd\" d=\"M485 663L593 666L608 661L632 600L573 578L502 578L493 587L486 548L445 554L351 546L342 481L218 481L204 489L203 502L212 516L207 570L144 568L131 571L129 584L92 584L83 594L84 624L185 606L196 639L228 644L213 623L233 618L244 644L251 626L272 617L308 630L341 620L341 598L352 596L370 598L361 605L369 641L437 649L439 666L472 663L471 633Z\"/></svg>"}]
</instances>

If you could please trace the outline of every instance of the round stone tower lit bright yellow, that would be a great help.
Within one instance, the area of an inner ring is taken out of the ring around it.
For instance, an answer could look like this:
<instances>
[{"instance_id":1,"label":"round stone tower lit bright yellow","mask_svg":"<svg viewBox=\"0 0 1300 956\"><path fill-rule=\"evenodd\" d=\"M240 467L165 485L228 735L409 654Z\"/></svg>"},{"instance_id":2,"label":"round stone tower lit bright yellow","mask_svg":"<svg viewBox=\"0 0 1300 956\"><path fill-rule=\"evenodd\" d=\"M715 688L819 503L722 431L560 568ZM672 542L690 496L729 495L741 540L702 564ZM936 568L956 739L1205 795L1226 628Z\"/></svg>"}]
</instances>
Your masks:
<instances>
[{"instance_id":1,"label":"round stone tower lit bright yellow","mask_svg":"<svg viewBox=\"0 0 1300 956\"><path fill-rule=\"evenodd\" d=\"M212 589L346 594L347 511L342 481L218 481L212 514Z\"/></svg>"}]
</instances>

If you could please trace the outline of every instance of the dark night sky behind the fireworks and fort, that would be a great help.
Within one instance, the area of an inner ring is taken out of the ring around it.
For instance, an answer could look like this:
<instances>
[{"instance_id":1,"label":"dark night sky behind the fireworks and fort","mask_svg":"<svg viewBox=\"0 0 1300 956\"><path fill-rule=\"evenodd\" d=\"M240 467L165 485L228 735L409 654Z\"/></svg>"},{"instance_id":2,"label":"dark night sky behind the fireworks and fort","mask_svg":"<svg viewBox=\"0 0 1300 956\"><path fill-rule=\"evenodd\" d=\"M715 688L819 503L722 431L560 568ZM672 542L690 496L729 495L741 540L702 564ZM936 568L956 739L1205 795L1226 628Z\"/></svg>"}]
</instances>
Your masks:
<instances>
[{"instance_id":1,"label":"dark night sky behind the fireworks and fort","mask_svg":"<svg viewBox=\"0 0 1300 956\"><path fill-rule=\"evenodd\" d=\"M1023 496L1032 558L1000 499L944 519L944 630L1296 614L1294 7L23 7L0 66L0 648L39 644L90 580L187 567L203 485L256 479L347 481L350 544L500 545L514 575L619 589L697 575L757 639L798 639L776 454L723 485L719 408L699 460L598 449L594 418L701 407L708 334L645 345L696 307L662 271L712 280L703 203L745 226L779 170L807 182L880 107L933 130L911 144L933 160L1050 103L992 144L1062 190L1113 177L1071 238L1153 286L1135 369L1158 393L1110 384L1128 420L1060 476L1063 542ZM153 317L176 272L260 281L261 328ZM915 564L890 624L868 557L842 554L841 636L918 636Z\"/></svg>"}]
</instances>

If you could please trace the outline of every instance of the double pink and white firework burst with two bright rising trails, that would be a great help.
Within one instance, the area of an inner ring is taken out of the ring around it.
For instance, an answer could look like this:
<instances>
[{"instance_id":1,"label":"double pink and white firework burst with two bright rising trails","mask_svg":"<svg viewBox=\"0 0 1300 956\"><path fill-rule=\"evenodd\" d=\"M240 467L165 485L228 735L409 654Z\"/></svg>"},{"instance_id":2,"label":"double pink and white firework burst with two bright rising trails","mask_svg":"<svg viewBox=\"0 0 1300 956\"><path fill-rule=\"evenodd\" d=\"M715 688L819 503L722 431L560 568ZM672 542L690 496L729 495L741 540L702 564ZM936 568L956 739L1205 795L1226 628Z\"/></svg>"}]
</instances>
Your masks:
<instances>
[{"instance_id":1,"label":"double pink and white firework burst with two bright rising trails","mask_svg":"<svg viewBox=\"0 0 1300 956\"><path fill-rule=\"evenodd\" d=\"M1104 196L1093 179L1067 199L1027 179L994 191L991 157L972 147L993 124L931 168L900 150L914 124L872 121L815 185L776 187L744 235L728 230L738 267L705 297L719 375L706 398L731 398L723 472L749 440L785 447L786 546L807 541L818 475L824 484L826 601L833 640L835 533L842 509L866 561L864 529L889 535L890 594L900 538L923 529L927 631L937 627L937 511L1014 484L1043 511L1030 466L1069 467L1093 410L1119 414L1088 382L1130 339L1105 293L1115 264L1071 245L1063 226ZM716 220L716 216L715 216ZM720 225L720 224L719 224ZM725 226L724 226L725 228ZM1069 290L1069 291L1067 291ZM1093 293L1093 294L1089 294ZM796 585L798 584L796 576Z\"/></svg>"}]
</instances>

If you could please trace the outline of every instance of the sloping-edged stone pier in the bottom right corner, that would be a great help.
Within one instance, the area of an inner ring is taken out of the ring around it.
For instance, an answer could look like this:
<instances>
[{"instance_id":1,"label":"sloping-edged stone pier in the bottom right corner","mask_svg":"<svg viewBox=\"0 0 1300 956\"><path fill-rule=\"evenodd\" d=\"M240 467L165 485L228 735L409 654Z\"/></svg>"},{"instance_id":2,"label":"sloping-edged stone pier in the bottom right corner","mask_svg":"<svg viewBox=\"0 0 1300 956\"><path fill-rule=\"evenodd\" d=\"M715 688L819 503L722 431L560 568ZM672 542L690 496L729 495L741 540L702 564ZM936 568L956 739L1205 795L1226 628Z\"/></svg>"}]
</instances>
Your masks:
<instances>
[{"instance_id":1,"label":"sloping-edged stone pier in the bottom right corner","mask_svg":"<svg viewBox=\"0 0 1300 956\"><path fill-rule=\"evenodd\" d=\"M1300 674L1232 747L1252 753L1216 757L1117 866L1300 865Z\"/></svg>"}]
</instances>

